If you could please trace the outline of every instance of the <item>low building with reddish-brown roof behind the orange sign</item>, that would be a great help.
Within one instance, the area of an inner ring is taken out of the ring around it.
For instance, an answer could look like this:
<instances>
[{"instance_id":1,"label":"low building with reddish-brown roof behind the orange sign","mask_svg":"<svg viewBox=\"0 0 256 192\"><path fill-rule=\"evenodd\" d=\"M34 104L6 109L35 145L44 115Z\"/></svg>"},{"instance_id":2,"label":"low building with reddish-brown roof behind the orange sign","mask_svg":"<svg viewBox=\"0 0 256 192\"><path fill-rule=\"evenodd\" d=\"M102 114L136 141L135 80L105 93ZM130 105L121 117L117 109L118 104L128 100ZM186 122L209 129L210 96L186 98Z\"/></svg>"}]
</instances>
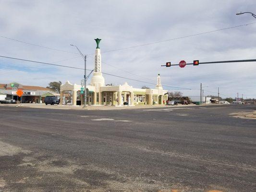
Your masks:
<instances>
[{"instance_id":1,"label":"low building with reddish-brown roof behind the orange sign","mask_svg":"<svg viewBox=\"0 0 256 192\"><path fill-rule=\"evenodd\" d=\"M45 96L54 96L55 94L46 87L23 85L16 82L0 84L0 93L5 94L5 99L20 101L20 97L16 94L18 89L24 93L22 103L40 103L40 100L44 101Z\"/></svg>"}]
</instances>

